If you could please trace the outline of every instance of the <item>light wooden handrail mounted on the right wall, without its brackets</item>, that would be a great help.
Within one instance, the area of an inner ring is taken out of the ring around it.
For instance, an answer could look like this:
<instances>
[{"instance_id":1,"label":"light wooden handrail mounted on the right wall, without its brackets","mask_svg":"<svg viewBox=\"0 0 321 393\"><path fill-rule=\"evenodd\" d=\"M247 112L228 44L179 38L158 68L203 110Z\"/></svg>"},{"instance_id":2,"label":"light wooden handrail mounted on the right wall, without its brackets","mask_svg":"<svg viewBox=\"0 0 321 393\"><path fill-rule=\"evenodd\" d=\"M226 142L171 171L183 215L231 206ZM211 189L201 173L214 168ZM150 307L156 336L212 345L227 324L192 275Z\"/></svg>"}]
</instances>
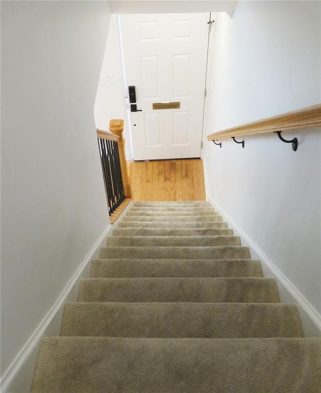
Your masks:
<instances>
[{"instance_id":1,"label":"light wooden handrail mounted on the right wall, without its brackets","mask_svg":"<svg viewBox=\"0 0 321 393\"><path fill-rule=\"evenodd\" d=\"M321 104L318 104L218 131L208 135L208 141L242 135L273 133L274 131L320 126Z\"/></svg>"}]
</instances>

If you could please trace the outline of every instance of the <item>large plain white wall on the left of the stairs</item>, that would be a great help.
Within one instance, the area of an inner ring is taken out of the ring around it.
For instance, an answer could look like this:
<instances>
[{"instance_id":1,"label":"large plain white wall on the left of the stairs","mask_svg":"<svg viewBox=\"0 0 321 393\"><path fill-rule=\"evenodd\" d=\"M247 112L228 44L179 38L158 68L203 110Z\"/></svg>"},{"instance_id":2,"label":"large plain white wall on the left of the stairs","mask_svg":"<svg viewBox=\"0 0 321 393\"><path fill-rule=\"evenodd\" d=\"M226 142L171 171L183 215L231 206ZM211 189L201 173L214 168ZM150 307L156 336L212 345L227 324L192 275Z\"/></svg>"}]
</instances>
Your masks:
<instances>
[{"instance_id":1,"label":"large plain white wall on the left of the stairs","mask_svg":"<svg viewBox=\"0 0 321 393\"><path fill-rule=\"evenodd\" d=\"M109 18L2 3L2 376L109 223L93 113Z\"/></svg>"}]
</instances>

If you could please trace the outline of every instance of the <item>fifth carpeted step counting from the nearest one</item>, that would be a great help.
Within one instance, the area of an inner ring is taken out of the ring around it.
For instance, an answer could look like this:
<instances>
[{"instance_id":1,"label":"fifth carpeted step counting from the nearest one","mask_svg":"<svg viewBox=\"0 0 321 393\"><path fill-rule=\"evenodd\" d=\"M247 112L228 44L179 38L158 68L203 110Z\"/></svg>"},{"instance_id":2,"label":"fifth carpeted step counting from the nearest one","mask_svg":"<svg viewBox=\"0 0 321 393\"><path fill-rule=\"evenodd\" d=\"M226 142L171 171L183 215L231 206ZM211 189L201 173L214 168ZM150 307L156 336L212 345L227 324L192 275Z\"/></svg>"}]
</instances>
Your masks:
<instances>
[{"instance_id":1,"label":"fifth carpeted step counting from the nearest one","mask_svg":"<svg viewBox=\"0 0 321 393\"><path fill-rule=\"evenodd\" d=\"M133 259L249 259L248 247L242 246L171 246L171 247L101 247L99 258Z\"/></svg>"}]
</instances>

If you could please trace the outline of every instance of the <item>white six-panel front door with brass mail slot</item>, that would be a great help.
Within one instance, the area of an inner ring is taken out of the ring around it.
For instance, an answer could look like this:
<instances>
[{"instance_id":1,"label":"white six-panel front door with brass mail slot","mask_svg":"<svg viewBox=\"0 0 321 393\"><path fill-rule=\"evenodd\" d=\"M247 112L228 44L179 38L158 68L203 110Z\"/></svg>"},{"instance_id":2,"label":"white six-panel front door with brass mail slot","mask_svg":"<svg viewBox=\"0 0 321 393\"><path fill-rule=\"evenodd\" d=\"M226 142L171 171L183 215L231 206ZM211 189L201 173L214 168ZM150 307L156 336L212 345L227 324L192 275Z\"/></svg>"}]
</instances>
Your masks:
<instances>
[{"instance_id":1,"label":"white six-panel front door with brass mail slot","mask_svg":"<svg viewBox=\"0 0 321 393\"><path fill-rule=\"evenodd\" d=\"M210 14L120 15L134 160L201 154ZM176 102L179 108L153 109Z\"/></svg>"}]
</instances>

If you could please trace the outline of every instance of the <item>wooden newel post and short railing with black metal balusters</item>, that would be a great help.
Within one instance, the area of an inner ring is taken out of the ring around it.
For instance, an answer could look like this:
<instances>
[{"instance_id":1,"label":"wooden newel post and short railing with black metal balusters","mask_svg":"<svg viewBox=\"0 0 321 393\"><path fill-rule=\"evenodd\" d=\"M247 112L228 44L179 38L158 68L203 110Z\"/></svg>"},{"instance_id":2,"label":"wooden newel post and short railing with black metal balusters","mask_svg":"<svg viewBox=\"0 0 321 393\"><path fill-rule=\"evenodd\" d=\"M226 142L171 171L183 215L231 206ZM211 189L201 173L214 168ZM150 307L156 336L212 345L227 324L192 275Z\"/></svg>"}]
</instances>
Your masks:
<instances>
[{"instance_id":1,"label":"wooden newel post and short railing with black metal balusters","mask_svg":"<svg viewBox=\"0 0 321 393\"><path fill-rule=\"evenodd\" d=\"M108 214L130 198L123 139L123 120L110 120L109 130L97 129L99 154L105 184Z\"/></svg>"}]
</instances>

